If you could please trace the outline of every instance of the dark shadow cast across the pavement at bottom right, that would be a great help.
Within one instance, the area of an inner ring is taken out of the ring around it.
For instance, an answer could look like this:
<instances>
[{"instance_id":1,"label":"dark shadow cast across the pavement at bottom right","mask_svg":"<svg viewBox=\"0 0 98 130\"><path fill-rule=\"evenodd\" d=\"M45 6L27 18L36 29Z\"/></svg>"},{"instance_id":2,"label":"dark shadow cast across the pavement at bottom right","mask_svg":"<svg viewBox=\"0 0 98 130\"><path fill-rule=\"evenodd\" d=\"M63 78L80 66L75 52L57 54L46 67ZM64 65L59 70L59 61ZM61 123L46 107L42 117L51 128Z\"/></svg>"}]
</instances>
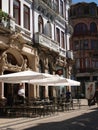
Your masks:
<instances>
[{"instance_id":1,"label":"dark shadow cast across the pavement at bottom right","mask_svg":"<svg viewBox=\"0 0 98 130\"><path fill-rule=\"evenodd\" d=\"M98 109L91 109L91 112L61 122L53 122L51 119L49 123L40 123L24 130L98 130Z\"/></svg>"}]
</instances>

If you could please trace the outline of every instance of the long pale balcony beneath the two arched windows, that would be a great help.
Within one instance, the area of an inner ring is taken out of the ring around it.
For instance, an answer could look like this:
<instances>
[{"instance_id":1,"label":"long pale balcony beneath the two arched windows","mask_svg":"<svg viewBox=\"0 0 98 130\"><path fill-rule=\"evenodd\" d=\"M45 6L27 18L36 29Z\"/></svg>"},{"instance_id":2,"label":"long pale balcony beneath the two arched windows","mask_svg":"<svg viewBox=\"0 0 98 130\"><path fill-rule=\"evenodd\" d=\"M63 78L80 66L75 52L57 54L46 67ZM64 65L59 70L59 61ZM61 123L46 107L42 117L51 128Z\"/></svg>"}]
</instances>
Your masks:
<instances>
[{"instance_id":1,"label":"long pale balcony beneath the two arched windows","mask_svg":"<svg viewBox=\"0 0 98 130\"><path fill-rule=\"evenodd\" d=\"M39 32L37 32L34 36L34 41L36 45L39 44L45 48L59 53L59 46L57 42L53 41L51 38L45 36L44 34L40 34Z\"/></svg>"}]
</instances>

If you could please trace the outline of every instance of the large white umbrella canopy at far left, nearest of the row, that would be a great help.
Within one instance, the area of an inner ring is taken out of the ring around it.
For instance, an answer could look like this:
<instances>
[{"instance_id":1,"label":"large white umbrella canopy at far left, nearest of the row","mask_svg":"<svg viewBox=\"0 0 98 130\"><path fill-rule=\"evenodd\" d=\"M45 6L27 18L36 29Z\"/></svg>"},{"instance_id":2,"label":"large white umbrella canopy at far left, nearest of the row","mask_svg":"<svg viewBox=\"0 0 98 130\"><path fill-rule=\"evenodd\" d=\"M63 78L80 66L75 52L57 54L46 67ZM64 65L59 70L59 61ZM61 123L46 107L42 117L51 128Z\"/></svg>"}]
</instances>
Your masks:
<instances>
[{"instance_id":1,"label":"large white umbrella canopy at far left, nearest of the row","mask_svg":"<svg viewBox=\"0 0 98 130\"><path fill-rule=\"evenodd\" d=\"M28 70L28 71L1 75L0 82L19 83L22 81L30 81L30 80L35 80L35 79L38 80L38 79L49 78L52 76L53 75L50 75L50 74L39 73L39 72Z\"/></svg>"}]
</instances>

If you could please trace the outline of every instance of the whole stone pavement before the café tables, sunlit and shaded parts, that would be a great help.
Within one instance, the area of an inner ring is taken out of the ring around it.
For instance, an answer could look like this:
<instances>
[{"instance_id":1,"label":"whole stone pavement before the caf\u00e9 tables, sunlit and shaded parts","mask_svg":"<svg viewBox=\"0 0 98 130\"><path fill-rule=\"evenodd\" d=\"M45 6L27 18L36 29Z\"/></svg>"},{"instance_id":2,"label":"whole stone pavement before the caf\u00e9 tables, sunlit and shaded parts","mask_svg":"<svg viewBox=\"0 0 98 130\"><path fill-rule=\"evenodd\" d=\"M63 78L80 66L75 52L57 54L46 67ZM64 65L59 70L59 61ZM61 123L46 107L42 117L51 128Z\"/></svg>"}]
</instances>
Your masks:
<instances>
[{"instance_id":1,"label":"whole stone pavement before the caf\u00e9 tables, sunlit and shaded parts","mask_svg":"<svg viewBox=\"0 0 98 130\"><path fill-rule=\"evenodd\" d=\"M98 130L97 126L94 129L85 126L94 115L98 116L96 105L41 118L0 118L0 130Z\"/></svg>"}]
</instances>

